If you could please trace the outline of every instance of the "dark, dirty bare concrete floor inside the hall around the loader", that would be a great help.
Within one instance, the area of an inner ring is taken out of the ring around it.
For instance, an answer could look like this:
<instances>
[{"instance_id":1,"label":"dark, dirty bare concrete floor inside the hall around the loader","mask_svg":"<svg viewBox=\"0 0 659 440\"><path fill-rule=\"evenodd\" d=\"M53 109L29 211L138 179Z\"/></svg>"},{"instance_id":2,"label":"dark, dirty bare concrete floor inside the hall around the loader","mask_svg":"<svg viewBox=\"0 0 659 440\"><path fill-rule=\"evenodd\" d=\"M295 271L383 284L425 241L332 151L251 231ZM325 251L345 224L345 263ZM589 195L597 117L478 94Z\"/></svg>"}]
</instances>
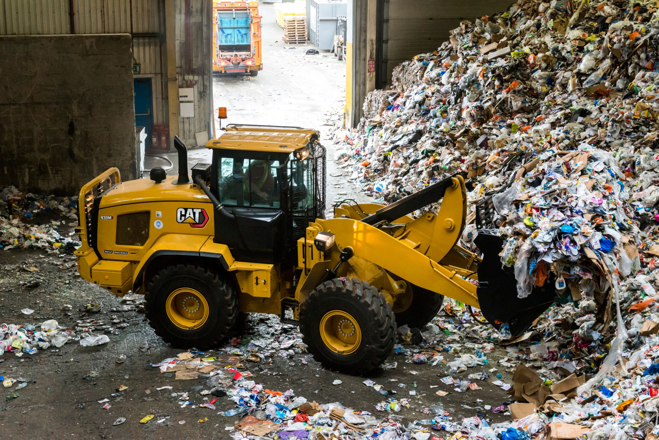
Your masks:
<instances>
[{"instance_id":1,"label":"dark, dirty bare concrete floor inside the hall around the loader","mask_svg":"<svg viewBox=\"0 0 659 440\"><path fill-rule=\"evenodd\" d=\"M61 217L64 218L64 217ZM40 221L49 221L45 215ZM72 227L72 225L71 225ZM63 226L64 230L67 229ZM68 269L61 269L71 265ZM23 267L36 267L37 271L26 271ZM194 380L175 380L171 373L163 374L150 364L156 364L165 358L175 357L183 350L171 348L157 337L146 323L144 314L136 311L141 298L129 303L122 302L109 292L81 279L72 256L49 256L40 250L10 250L0 253L0 323L41 323L54 318L63 328L89 329L110 325L116 329L109 336L110 342L102 346L83 347L77 342L70 342L61 348L39 350L36 354L24 354L21 357L11 353L0 356L0 376L19 377L28 381L28 386L20 389L16 399L5 401L12 395L14 387L2 389L0 400L0 436L3 439L228 439L225 427L233 426L238 417L225 417L217 412L233 408L233 402L226 398L219 399L216 410L200 408L205 396L200 390L209 389L206 377ZM28 287L38 281L37 287ZM101 303L98 314L86 311L87 304ZM63 310L71 306L71 312ZM29 317L20 312L31 308L35 312ZM127 327L119 329L122 324ZM78 334L84 331L76 330ZM96 335L103 334L96 330ZM116 333L116 334L115 334ZM277 317L251 315L246 331L235 346L244 347L253 339L270 339L280 341L299 337L295 326L281 326ZM451 343L455 343L454 340ZM458 343L475 342L465 334L459 336ZM449 343L445 340L440 344ZM232 346L226 343L224 352L231 353ZM406 347L412 348L413 347ZM273 356L268 362L254 364L244 362L245 369L254 377L252 380L262 383L264 388L274 391L293 389L295 395L316 400L320 403L341 402L341 404L372 412L377 418L393 416L402 420L407 426L414 420L428 419L422 412L424 406L442 402L453 422L460 423L464 417L484 414L490 421L501 422L507 419L503 413L493 414L484 410L484 405L492 408L508 400L507 393L492 385L496 379L489 373L490 379L476 380L480 390L467 390L465 393L454 391L455 385L445 385L442 377L451 375L455 379L467 379L470 373L490 371L499 368L504 382L510 383L511 374L496 364L496 360L507 355L498 348L488 353L490 364L483 367L469 368L463 373L453 373L448 366L428 364L411 364L409 358L391 353L386 362L398 362L394 370L374 371L366 377L351 376L326 370L315 362L310 354L295 349L291 354L287 350L272 350ZM459 354L473 352L463 349ZM117 364L119 355L126 356L125 362ZM458 356L459 356L458 354ZM208 353L214 356L215 353ZM444 354L447 360L453 360L451 354ZM91 371L98 377L86 379ZM384 397L362 383L369 378L384 385L385 389L396 391L388 397L410 399L411 407L403 408L397 413L378 412L376 404L386 400ZM335 379L343 381L341 385L332 385ZM117 387L125 385L127 390L118 393ZM156 390L157 387L169 385L173 389ZM439 397L436 391L442 390L448 395ZM171 393L190 392L190 401L195 406L181 408L179 399ZM409 395L416 391L416 395ZM99 400L109 402L99 403ZM104 404L111 408L103 408ZM148 414L156 414L148 424L139 420ZM119 417L127 421L120 426L113 426ZM208 418L205 423L199 419ZM164 419L164 420L163 420ZM163 420L163 422L159 422ZM186 423L181 425L179 421ZM443 437L439 433L440 437ZM445 434L445 433L444 433Z\"/></svg>"}]
</instances>

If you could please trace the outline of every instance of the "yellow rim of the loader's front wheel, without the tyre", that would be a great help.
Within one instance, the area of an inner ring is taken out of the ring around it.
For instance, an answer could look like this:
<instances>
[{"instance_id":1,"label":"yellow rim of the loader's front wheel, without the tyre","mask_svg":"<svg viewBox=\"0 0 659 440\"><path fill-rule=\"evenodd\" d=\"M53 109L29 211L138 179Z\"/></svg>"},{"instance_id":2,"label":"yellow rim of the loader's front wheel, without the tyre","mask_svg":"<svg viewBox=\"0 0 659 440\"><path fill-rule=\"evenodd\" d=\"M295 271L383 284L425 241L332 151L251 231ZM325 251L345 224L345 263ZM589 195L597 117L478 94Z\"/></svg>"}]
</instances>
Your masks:
<instances>
[{"instance_id":1,"label":"yellow rim of the loader's front wheel, without the tyre","mask_svg":"<svg viewBox=\"0 0 659 440\"><path fill-rule=\"evenodd\" d=\"M332 310L323 316L320 337L330 350L338 354L351 354L362 343L362 331L357 319L341 310Z\"/></svg>"}]
</instances>

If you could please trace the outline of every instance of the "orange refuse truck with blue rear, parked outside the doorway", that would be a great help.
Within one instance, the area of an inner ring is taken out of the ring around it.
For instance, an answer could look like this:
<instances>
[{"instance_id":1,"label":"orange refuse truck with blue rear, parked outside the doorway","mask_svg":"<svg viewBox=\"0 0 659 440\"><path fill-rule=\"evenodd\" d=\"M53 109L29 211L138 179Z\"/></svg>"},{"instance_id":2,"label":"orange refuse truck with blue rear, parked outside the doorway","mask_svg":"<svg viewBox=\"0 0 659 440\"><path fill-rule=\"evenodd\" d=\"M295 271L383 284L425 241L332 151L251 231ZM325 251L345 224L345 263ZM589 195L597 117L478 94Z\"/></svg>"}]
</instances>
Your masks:
<instances>
[{"instance_id":1,"label":"orange refuse truck with blue rear, parked outside the doorway","mask_svg":"<svg viewBox=\"0 0 659 440\"><path fill-rule=\"evenodd\" d=\"M248 73L263 70L261 15L258 1L213 1L213 71Z\"/></svg>"}]
</instances>

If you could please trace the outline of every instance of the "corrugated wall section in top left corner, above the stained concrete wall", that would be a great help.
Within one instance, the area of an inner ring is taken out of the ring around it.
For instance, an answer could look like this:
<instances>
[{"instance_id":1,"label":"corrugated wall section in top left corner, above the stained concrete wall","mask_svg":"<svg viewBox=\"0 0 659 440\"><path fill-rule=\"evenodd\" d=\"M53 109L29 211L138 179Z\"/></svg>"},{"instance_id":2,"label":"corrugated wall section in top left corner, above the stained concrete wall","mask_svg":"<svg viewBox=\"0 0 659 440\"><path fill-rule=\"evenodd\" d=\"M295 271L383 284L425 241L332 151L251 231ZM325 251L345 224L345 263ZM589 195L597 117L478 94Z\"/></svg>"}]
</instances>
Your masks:
<instances>
[{"instance_id":1,"label":"corrugated wall section in top left corner, above the stained concrete wall","mask_svg":"<svg viewBox=\"0 0 659 440\"><path fill-rule=\"evenodd\" d=\"M69 0L3 0L0 35L70 34Z\"/></svg>"}]
</instances>

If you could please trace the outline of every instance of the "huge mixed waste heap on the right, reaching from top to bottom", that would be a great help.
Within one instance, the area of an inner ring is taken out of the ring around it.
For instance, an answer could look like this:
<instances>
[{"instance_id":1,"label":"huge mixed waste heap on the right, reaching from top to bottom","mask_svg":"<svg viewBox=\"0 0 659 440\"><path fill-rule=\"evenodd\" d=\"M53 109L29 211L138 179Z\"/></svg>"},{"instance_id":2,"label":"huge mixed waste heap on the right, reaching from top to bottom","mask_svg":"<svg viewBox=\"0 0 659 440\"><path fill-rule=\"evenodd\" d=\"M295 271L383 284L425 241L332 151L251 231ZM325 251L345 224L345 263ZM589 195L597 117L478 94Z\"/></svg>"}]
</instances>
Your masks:
<instances>
[{"instance_id":1,"label":"huge mixed waste heap on the right, reaching from top to bottom","mask_svg":"<svg viewBox=\"0 0 659 440\"><path fill-rule=\"evenodd\" d=\"M469 221L486 198L496 208L485 227L505 239L517 296L556 289L558 306L506 341L511 399L548 416L533 437L659 434L658 70L656 2L520 1L397 67L358 128L334 132L339 167L379 202L462 175ZM478 252L478 233L459 244ZM478 356L438 336L480 336L478 350L509 336L451 305L397 352L469 368Z\"/></svg>"}]
</instances>

